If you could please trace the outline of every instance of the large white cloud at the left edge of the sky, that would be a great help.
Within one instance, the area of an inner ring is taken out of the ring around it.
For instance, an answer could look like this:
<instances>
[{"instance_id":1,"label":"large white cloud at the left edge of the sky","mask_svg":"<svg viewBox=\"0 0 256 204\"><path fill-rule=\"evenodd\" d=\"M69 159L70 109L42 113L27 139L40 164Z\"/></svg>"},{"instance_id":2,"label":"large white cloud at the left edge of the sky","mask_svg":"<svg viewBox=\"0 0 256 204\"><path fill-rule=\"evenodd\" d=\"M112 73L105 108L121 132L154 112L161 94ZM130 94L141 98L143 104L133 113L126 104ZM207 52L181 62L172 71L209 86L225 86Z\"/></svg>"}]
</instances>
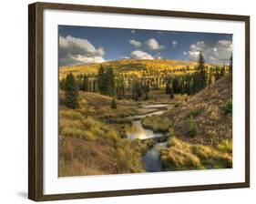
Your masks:
<instances>
[{"instance_id":1,"label":"large white cloud at the left edge of the sky","mask_svg":"<svg viewBox=\"0 0 256 204\"><path fill-rule=\"evenodd\" d=\"M102 63L104 55L103 47L96 48L87 39L59 36L59 66Z\"/></svg>"}]
</instances>

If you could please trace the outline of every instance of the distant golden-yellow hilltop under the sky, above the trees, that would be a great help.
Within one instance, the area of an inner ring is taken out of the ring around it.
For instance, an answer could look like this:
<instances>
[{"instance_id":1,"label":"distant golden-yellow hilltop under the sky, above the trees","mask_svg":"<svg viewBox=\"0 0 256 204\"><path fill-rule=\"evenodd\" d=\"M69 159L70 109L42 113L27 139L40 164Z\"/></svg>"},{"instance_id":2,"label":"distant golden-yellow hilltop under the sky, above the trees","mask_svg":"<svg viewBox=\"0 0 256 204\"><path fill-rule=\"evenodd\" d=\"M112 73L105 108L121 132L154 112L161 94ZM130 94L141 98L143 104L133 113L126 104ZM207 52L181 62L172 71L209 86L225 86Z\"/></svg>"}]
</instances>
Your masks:
<instances>
[{"instance_id":1,"label":"distant golden-yellow hilltop under the sky, above the trees","mask_svg":"<svg viewBox=\"0 0 256 204\"><path fill-rule=\"evenodd\" d=\"M197 65L196 62L180 61L171 59L155 59L155 60L137 60L137 59L122 59L118 61L109 61L101 64L87 64L77 66L62 66L59 68L59 77L66 76L67 73L72 72L74 75L79 74L97 74L99 66L111 66L115 71L139 71L147 68L158 69L179 69L181 67L189 66L193 69ZM212 66L212 65L207 65Z\"/></svg>"}]
</instances>

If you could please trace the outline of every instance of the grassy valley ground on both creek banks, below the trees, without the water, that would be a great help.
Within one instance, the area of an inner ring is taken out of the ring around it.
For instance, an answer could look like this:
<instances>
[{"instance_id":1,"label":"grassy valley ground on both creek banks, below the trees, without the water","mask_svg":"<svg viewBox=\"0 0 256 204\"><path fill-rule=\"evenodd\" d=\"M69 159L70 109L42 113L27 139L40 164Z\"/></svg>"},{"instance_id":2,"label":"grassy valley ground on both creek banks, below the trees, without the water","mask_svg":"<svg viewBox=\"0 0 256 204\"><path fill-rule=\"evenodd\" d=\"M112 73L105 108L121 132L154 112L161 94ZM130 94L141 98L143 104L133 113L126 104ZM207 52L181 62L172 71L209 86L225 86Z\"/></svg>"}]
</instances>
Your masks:
<instances>
[{"instance_id":1,"label":"grassy valley ground on both creek banks, below the trees, without the water","mask_svg":"<svg viewBox=\"0 0 256 204\"><path fill-rule=\"evenodd\" d=\"M156 141L128 139L127 131L131 116L153 113L158 109L143 107L158 104L172 108L141 124L168 134L166 147L159 147L164 169L231 168L231 114L225 110L231 93L231 76L193 97L170 99L162 87L147 101L117 100L117 108L111 108L112 97L79 92L79 108L59 107L59 176L145 172L141 159Z\"/></svg>"}]
</instances>

